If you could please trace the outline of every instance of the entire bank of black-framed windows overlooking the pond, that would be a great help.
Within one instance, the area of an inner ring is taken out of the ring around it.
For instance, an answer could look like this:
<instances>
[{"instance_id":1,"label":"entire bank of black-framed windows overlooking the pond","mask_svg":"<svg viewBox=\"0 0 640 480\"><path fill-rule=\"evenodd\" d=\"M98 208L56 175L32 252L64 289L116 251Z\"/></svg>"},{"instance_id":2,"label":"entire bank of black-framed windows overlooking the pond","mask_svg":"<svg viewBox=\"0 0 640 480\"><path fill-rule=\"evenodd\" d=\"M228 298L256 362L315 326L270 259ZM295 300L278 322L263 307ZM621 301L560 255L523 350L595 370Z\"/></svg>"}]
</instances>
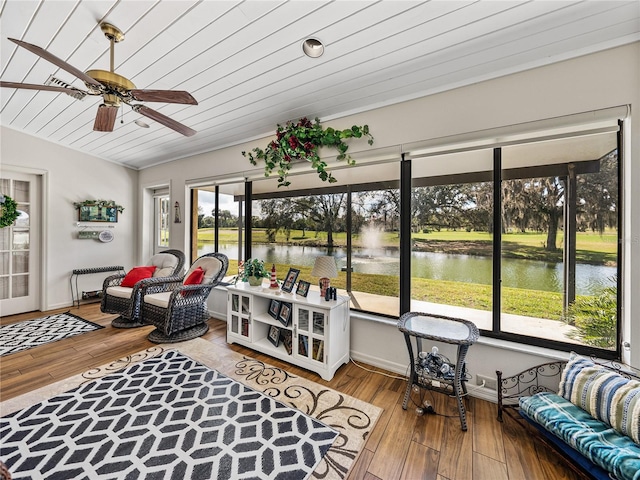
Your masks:
<instances>
[{"instance_id":1,"label":"entire bank of black-framed windows overlooking the pond","mask_svg":"<svg viewBox=\"0 0 640 480\"><path fill-rule=\"evenodd\" d=\"M273 179L200 189L198 252L258 258L280 279L297 268L315 289L314 260L332 255L332 284L354 311L423 311L487 336L618 356L618 142L611 126L365 159L333 184L296 174L286 189Z\"/></svg>"}]
</instances>

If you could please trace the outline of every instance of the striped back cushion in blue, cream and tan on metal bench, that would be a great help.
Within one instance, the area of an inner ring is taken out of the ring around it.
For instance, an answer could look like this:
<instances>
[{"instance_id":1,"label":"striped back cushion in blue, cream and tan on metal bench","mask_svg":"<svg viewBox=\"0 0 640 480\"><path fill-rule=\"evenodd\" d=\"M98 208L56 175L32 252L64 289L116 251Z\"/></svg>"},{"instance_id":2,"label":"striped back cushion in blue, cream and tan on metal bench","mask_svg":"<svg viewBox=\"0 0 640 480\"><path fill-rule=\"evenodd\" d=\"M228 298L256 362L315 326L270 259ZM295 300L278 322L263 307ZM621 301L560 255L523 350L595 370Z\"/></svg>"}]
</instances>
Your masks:
<instances>
[{"instance_id":1,"label":"striped back cushion in blue, cream and tan on metal bench","mask_svg":"<svg viewBox=\"0 0 640 480\"><path fill-rule=\"evenodd\" d=\"M572 353L558 394L640 443L640 382Z\"/></svg>"}]
</instances>

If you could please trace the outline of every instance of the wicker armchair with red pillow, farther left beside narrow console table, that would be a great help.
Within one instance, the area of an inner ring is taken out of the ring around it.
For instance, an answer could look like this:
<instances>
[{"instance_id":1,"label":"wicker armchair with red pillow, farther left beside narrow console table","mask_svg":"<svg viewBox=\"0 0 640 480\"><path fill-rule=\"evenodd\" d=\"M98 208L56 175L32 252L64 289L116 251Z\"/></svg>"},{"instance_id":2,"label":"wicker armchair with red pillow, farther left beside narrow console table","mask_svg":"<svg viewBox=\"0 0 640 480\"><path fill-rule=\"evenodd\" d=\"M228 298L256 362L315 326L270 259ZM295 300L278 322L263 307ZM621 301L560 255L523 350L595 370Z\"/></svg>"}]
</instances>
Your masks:
<instances>
[{"instance_id":1,"label":"wicker armchair with red pillow, farther left beside narrow console table","mask_svg":"<svg viewBox=\"0 0 640 480\"><path fill-rule=\"evenodd\" d=\"M149 292L162 292L170 288L168 279L182 281L185 256L180 250L164 250L149 260L148 265L155 265L153 277L140 280L133 287L122 287L120 284L125 274L120 273L105 278L102 285L102 301L100 311L103 313L117 313L120 316L111 322L116 328L142 327L140 321L140 302L142 287L149 286Z\"/></svg>"}]
</instances>

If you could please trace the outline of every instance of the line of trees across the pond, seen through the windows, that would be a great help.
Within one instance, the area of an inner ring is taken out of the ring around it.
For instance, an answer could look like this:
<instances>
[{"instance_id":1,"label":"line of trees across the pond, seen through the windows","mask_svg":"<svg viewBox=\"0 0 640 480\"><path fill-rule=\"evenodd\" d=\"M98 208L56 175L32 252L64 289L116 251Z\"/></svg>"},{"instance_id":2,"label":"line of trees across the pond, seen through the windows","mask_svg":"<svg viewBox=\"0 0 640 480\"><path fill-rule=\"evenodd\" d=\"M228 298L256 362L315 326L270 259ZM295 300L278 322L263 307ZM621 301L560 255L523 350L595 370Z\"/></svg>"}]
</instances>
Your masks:
<instances>
[{"instance_id":1,"label":"line of trees across the pond, seen through the windows","mask_svg":"<svg viewBox=\"0 0 640 480\"><path fill-rule=\"evenodd\" d=\"M576 221L579 231L603 233L617 228L618 156L613 151L600 159L597 173L577 175ZM503 233L546 232L545 249L557 249L558 232L563 228L567 178L549 176L502 181L500 228ZM414 232L466 230L493 233L494 189L492 182L458 183L414 187L411 191L411 218ZM292 230L322 231L327 246L333 234L346 231L347 193L273 198L258 202L252 218L254 228L265 230L270 242L278 232L287 241ZM374 224L384 231L398 231L400 192L398 189L354 192L351 199L354 232ZM212 212L213 215L213 212ZM237 228L238 217L228 210L219 213L221 228ZM213 217L198 215L198 228L213 227Z\"/></svg>"}]
</instances>

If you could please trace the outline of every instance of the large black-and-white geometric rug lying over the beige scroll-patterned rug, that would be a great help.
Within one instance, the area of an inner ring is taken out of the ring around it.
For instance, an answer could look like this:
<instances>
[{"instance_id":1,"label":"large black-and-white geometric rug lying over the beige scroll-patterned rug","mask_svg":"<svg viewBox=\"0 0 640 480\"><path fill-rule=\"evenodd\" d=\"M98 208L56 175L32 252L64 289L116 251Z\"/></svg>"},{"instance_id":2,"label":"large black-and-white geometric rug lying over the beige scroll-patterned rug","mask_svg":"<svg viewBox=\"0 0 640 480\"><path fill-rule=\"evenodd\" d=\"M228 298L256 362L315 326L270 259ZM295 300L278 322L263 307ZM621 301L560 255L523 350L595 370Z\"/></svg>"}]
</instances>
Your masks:
<instances>
[{"instance_id":1,"label":"large black-and-white geometric rug lying over the beige scroll-patterned rug","mask_svg":"<svg viewBox=\"0 0 640 480\"><path fill-rule=\"evenodd\" d=\"M14 479L304 479L338 432L175 350L0 418Z\"/></svg>"}]
</instances>

